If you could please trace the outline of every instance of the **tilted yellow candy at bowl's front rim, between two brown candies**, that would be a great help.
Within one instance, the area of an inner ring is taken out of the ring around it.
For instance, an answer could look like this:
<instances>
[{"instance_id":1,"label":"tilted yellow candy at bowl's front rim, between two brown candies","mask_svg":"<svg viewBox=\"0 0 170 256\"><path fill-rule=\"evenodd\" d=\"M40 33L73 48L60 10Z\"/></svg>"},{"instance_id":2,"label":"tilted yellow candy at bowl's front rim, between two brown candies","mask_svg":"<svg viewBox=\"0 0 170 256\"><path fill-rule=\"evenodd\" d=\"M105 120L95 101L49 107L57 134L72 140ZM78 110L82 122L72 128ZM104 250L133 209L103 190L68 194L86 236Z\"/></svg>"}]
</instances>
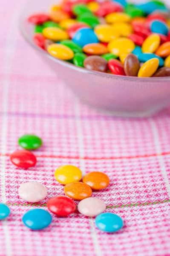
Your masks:
<instances>
[{"instance_id":1,"label":"tilted yellow candy at bowl's front rim, between two brown candies","mask_svg":"<svg viewBox=\"0 0 170 256\"><path fill-rule=\"evenodd\" d=\"M145 62L139 72L138 77L151 77L156 72L159 66L158 58L152 58L149 61Z\"/></svg>"}]
</instances>

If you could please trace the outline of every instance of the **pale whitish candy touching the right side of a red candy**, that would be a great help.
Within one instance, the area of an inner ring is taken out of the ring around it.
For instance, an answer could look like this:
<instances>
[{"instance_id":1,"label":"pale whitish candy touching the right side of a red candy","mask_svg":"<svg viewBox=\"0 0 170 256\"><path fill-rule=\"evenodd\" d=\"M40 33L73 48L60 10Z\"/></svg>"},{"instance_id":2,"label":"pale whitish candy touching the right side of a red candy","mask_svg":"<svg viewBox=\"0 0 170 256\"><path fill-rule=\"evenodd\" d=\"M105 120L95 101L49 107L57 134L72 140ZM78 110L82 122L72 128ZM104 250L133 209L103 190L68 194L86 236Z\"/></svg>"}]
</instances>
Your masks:
<instances>
[{"instance_id":1,"label":"pale whitish candy touching the right side of a red candy","mask_svg":"<svg viewBox=\"0 0 170 256\"><path fill-rule=\"evenodd\" d=\"M95 217L106 209L106 204L99 198L85 198L78 204L78 211L88 217Z\"/></svg>"}]
</instances>

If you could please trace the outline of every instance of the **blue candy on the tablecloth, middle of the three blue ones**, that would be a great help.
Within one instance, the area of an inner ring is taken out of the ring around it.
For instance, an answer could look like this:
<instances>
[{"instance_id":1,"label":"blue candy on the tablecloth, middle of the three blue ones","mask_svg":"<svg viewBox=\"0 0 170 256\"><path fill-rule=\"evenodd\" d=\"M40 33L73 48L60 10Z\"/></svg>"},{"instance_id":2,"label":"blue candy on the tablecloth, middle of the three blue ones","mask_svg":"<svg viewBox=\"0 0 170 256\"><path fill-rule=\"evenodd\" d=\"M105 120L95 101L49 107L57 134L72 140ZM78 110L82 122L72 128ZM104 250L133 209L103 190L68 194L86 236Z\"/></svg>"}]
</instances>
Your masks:
<instances>
[{"instance_id":1,"label":"blue candy on the tablecloth, middle of the three blue ones","mask_svg":"<svg viewBox=\"0 0 170 256\"><path fill-rule=\"evenodd\" d=\"M23 215L23 224L32 230L41 230L52 222L52 216L43 209L32 209Z\"/></svg>"}]
</instances>

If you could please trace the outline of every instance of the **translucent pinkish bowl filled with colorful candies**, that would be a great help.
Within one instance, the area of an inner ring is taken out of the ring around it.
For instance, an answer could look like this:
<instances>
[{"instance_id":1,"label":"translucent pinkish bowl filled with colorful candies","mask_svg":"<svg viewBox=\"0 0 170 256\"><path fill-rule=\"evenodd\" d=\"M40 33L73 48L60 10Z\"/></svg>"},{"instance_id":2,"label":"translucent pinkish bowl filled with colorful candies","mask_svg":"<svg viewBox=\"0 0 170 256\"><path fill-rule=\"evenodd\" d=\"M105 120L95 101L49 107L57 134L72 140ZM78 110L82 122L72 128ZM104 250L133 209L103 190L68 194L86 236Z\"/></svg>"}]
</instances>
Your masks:
<instances>
[{"instance_id":1,"label":"translucent pinkish bowl filled with colorful candies","mask_svg":"<svg viewBox=\"0 0 170 256\"><path fill-rule=\"evenodd\" d=\"M162 1L29 1L26 41L85 103L116 116L170 104L170 11Z\"/></svg>"}]
</instances>

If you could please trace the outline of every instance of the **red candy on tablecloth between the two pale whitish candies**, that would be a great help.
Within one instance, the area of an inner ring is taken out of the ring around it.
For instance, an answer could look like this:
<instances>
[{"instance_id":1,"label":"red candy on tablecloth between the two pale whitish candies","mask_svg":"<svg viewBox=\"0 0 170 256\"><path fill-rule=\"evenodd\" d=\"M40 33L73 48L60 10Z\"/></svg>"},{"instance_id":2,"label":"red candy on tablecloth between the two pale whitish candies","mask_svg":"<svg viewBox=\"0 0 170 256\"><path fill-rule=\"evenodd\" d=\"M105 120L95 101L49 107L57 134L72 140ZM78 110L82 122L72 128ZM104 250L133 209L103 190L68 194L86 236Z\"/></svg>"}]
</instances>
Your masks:
<instances>
[{"instance_id":1,"label":"red candy on tablecloth between the two pale whitish candies","mask_svg":"<svg viewBox=\"0 0 170 256\"><path fill-rule=\"evenodd\" d=\"M66 196L55 196L49 199L47 207L58 216L67 216L75 211L75 203Z\"/></svg>"}]
</instances>

